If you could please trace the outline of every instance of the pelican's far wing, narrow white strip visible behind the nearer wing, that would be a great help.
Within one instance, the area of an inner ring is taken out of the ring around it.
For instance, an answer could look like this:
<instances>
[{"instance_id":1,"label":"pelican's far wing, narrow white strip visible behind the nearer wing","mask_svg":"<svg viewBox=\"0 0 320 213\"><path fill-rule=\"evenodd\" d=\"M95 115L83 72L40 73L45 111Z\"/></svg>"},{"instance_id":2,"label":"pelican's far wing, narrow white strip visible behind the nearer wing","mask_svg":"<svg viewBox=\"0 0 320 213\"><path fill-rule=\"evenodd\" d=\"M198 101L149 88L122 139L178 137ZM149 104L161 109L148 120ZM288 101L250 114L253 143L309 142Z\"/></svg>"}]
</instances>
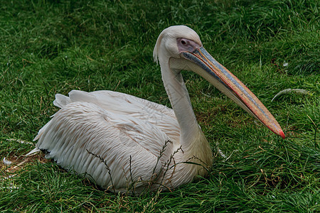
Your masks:
<instances>
[{"instance_id":1,"label":"pelican's far wing, narrow white strip visible behind the nearer wing","mask_svg":"<svg viewBox=\"0 0 320 213\"><path fill-rule=\"evenodd\" d=\"M180 139L180 127L174 110L161 104L109 90L95 92L73 90L69 92L69 97L56 94L53 104L62 108L72 102L89 102L115 114L132 116L148 121L150 124L158 126L161 131L164 131L174 143L178 144Z\"/></svg>"}]
</instances>

